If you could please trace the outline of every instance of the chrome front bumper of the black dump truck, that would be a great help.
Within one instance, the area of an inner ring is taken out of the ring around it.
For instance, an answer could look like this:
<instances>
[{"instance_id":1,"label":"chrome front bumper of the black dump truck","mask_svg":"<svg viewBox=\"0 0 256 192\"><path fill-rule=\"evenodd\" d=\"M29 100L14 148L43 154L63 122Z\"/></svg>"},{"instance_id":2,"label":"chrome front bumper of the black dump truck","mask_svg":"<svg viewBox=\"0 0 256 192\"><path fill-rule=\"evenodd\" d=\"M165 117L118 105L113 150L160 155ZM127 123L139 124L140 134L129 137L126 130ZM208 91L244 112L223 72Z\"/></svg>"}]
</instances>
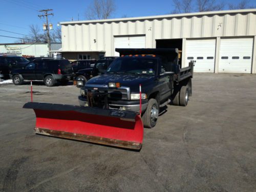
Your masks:
<instances>
[{"instance_id":1,"label":"chrome front bumper of the black dump truck","mask_svg":"<svg viewBox=\"0 0 256 192\"><path fill-rule=\"evenodd\" d=\"M85 106L87 102L87 98L83 96L78 96L78 101L80 106ZM147 106L147 99L141 100L141 111L144 112ZM109 109L113 110L123 110L124 111L133 111L139 112L140 111L140 101L139 100L119 100L119 101L111 101L109 100Z\"/></svg>"}]
</instances>

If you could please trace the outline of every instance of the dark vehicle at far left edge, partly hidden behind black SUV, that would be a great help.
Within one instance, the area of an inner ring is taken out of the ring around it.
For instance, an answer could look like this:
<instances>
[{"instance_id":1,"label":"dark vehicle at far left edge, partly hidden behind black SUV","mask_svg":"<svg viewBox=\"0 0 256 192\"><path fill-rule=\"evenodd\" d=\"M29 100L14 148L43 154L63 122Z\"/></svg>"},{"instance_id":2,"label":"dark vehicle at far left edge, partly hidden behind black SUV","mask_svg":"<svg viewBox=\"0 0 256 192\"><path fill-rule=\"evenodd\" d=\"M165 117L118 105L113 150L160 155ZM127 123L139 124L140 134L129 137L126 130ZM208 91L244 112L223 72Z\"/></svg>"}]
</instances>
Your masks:
<instances>
[{"instance_id":1,"label":"dark vehicle at far left edge, partly hidden behind black SUV","mask_svg":"<svg viewBox=\"0 0 256 192\"><path fill-rule=\"evenodd\" d=\"M9 77L9 73L13 69L23 68L28 64L29 60L25 57L16 55L0 55L0 73L4 77Z\"/></svg>"}]
</instances>

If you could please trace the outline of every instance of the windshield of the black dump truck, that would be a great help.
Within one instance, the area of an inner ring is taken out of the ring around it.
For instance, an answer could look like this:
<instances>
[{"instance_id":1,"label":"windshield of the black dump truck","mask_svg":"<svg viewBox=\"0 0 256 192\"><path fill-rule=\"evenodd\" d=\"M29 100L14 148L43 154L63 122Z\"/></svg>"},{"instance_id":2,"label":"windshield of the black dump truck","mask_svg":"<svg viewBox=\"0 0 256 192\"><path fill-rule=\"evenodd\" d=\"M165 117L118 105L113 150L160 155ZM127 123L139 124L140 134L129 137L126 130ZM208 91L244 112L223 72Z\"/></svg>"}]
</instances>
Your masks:
<instances>
[{"instance_id":1,"label":"windshield of the black dump truck","mask_svg":"<svg viewBox=\"0 0 256 192\"><path fill-rule=\"evenodd\" d=\"M115 59L106 73L132 73L140 75L155 75L157 59L146 57L120 57Z\"/></svg>"}]
</instances>

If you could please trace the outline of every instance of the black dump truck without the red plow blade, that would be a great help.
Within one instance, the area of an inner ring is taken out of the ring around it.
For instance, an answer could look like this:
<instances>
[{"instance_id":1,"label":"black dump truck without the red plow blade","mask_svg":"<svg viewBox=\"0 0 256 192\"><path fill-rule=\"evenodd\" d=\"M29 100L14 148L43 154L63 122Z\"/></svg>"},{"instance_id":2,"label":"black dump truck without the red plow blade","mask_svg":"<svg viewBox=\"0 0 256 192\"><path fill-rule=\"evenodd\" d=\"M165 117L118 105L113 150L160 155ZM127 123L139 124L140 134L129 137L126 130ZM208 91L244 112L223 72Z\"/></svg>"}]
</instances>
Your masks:
<instances>
[{"instance_id":1,"label":"black dump truck without the red plow blade","mask_svg":"<svg viewBox=\"0 0 256 192\"><path fill-rule=\"evenodd\" d=\"M159 110L172 103L186 106L192 94L194 61L178 65L178 49L116 49L116 58L104 74L88 80L79 104L140 113L144 127L156 125Z\"/></svg>"}]
</instances>

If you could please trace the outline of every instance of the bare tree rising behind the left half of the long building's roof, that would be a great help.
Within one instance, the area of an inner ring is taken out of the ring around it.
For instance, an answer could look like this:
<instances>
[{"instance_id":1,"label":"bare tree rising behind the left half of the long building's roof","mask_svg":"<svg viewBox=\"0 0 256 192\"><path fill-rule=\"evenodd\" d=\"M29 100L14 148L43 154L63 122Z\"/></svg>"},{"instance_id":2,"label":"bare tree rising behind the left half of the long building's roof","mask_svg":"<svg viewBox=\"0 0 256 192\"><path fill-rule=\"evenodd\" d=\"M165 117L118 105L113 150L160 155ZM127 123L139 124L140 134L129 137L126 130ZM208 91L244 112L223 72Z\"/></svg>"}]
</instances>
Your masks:
<instances>
[{"instance_id":1,"label":"bare tree rising behind the left half of the long building's roof","mask_svg":"<svg viewBox=\"0 0 256 192\"><path fill-rule=\"evenodd\" d=\"M86 12L86 18L107 19L112 16L116 10L114 0L93 0Z\"/></svg>"}]
</instances>

